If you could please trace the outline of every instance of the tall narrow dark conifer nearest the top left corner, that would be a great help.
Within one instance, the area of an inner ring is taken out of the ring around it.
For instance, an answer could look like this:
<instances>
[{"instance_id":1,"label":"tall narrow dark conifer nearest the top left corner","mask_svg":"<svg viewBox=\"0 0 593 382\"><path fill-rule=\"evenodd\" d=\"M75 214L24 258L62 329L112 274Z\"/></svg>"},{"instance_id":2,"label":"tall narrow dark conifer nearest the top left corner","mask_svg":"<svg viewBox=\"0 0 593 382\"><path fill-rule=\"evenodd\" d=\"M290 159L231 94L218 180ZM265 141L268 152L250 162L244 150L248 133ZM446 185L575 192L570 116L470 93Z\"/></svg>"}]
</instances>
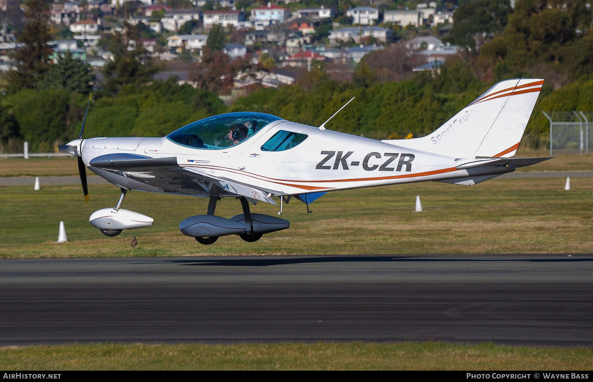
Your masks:
<instances>
[{"instance_id":1,"label":"tall narrow dark conifer nearest the top left corner","mask_svg":"<svg viewBox=\"0 0 593 382\"><path fill-rule=\"evenodd\" d=\"M15 93L21 88L36 88L49 69L49 56L52 50L47 46L51 40L49 32L49 7L45 0L25 2L25 27L17 34L17 42L22 44L14 55L17 68L7 72L8 92Z\"/></svg>"}]
</instances>

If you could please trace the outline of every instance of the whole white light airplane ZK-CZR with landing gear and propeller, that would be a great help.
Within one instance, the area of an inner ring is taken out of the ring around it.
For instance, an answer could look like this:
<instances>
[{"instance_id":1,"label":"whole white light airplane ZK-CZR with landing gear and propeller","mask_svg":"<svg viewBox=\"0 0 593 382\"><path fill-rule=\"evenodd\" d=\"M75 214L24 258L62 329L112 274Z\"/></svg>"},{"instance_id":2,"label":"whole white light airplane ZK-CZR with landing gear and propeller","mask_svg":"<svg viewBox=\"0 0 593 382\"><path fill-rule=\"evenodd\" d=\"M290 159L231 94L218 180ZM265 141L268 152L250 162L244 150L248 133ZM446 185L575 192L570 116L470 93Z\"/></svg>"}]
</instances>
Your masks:
<instances>
[{"instance_id":1,"label":"whole white light airplane ZK-CZR with landing gear and propeller","mask_svg":"<svg viewBox=\"0 0 593 382\"><path fill-rule=\"evenodd\" d=\"M66 149L78 157L85 199L85 167L121 190L114 208L90 217L107 236L153 224L121 208L126 192L135 190L209 198L206 214L184 219L181 232L202 244L234 234L252 242L290 222L253 213L250 202L277 205L278 198L280 215L283 202L295 198L309 211L309 203L330 191L425 181L471 186L550 159L511 158L543 82L499 82L422 138L377 141L327 130L325 123L316 128L247 112L199 120L163 138L82 139L83 122ZM243 214L216 216L221 198L240 200Z\"/></svg>"}]
</instances>

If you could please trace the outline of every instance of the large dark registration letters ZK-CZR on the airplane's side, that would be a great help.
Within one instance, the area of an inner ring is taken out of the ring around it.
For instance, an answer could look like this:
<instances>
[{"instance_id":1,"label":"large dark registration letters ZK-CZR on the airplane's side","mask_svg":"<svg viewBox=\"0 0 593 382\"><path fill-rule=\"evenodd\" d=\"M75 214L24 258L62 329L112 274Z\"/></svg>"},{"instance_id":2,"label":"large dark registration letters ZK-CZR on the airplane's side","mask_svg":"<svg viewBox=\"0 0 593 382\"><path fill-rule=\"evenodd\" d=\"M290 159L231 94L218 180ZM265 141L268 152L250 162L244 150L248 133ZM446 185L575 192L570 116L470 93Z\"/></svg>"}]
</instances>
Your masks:
<instances>
[{"instance_id":1,"label":"large dark registration letters ZK-CZR on the airplane's side","mask_svg":"<svg viewBox=\"0 0 593 382\"><path fill-rule=\"evenodd\" d=\"M347 158L350 155L354 154L353 151L321 151L321 155L325 155L325 157L317 163L315 166L316 170L338 170L340 167L342 170L350 170L350 167L355 167L360 165L360 161L350 161L347 162ZM335 159L334 159L335 157ZM399 160L396 160L399 157ZM407 153L398 153L398 152L384 152L380 154L379 152L369 152L366 154L364 160L362 161L362 168L366 171L412 171L412 161L416 158L414 154L407 154ZM333 160L333 163L331 163ZM369 164L370 161L378 162L381 161L381 164ZM349 167L350 165L350 167ZM405 168L405 170L404 170Z\"/></svg>"}]
</instances>

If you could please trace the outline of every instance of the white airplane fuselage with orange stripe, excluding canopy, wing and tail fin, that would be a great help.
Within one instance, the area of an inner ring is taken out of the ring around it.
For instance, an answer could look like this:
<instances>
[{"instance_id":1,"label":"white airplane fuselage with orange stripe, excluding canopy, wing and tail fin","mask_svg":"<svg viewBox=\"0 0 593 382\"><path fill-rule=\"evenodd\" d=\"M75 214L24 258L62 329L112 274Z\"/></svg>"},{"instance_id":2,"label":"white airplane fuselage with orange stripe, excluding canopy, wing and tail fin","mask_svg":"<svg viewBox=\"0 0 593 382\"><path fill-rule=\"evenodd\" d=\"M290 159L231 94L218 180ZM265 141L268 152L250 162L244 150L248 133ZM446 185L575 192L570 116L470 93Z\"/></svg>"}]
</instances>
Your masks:
<instances>
[{"instance_id":1,"label":"white airplane fuselage with orange stripe, excluding canopy, wing and tail fin","mask_svg":"<svg viewBox=\"0 0 593 382\"><path fill-rule=\"evenodd\" d=\"M263 151L278 130L308 135L297 147ZM385 184L447 180L468 176L457 166L472 158L453 158L387 144L375 139L279 120L257 135L224 149L199 149L164 138L91 138L82 142L82 160L127 153L151 158L176 157L187 171L232 179L273 195L327 192ZM93 168L91 167L91 170Z\"/></svg>"}]
</instances>

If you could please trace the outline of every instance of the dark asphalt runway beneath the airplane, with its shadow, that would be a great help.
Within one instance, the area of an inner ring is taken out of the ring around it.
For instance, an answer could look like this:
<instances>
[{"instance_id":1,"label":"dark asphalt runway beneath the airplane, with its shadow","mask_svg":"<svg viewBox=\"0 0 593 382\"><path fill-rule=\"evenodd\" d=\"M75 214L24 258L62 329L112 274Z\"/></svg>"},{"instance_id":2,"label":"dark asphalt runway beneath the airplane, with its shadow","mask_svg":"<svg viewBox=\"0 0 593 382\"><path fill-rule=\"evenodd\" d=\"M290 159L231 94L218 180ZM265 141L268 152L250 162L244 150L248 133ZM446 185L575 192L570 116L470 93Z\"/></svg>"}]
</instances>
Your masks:
<instances>
[{"instance_id":1,"label":"dark asphalt runway beneath the airplane, with its shadow","mask_svg":"<svg viewBox=\"0 0 593 382\"><path fill-rule=\"evenodd\" d=\"M503 234L503 233L501 233ZM593 255L0 260L0 346L593 346Z\"/></svg>"}]
</instances>

